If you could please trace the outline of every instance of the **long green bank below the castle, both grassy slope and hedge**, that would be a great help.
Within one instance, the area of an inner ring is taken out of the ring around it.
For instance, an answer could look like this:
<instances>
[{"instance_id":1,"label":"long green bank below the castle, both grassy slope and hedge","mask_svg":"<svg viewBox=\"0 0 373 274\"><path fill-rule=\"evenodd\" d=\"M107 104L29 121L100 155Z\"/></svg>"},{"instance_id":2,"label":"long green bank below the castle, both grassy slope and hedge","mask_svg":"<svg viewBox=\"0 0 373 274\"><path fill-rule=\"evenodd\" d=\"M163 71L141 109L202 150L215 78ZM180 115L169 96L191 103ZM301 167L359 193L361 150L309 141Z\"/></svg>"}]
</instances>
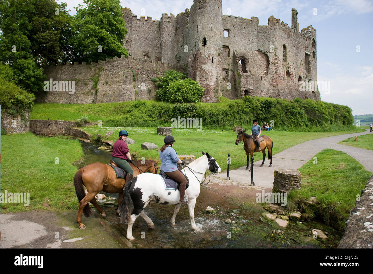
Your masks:
<instances>
[{"instance_id":1,"label":"long green bank below the castle, both grassy slope and hedge","mask_svg":"<svg viewBox=\"0 0 373 274\"><path fill-rule=\"evenodd\" d=\"M283 131L350 130L353 124L347 106L313 101L294 101L244 97L219 103L163 103L158 101L129 101L104 104L35 104L30 119L76 120L86 115L92 122L101 120L104 126L170 126L171 119L199 118L204 129L231 129L232 126L252 126L253 119L260 125L271 124Z\"/></svg>"}]
</instances>

